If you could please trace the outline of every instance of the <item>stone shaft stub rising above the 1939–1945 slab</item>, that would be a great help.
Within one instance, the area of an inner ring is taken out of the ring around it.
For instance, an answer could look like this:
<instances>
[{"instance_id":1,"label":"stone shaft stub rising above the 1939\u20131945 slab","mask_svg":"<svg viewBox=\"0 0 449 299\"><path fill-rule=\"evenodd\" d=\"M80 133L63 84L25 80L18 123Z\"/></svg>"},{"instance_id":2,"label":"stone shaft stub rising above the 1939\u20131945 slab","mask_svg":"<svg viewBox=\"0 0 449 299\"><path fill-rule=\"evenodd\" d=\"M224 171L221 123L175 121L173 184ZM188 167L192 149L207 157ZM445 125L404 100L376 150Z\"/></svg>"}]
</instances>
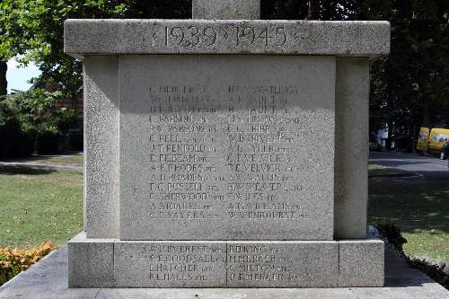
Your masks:
<instances>
[{"instance_id":1,"label":"stone shaft stub rising above the 1939\u20131945 slab","mask_svg":"<svg viewBox=\"0 0 449 299\"><path fill-rule=\"evenodd\" d=\"M260 0L193 0L192 18L257 20L260 19Z\"/></svg>"}]
</instances>

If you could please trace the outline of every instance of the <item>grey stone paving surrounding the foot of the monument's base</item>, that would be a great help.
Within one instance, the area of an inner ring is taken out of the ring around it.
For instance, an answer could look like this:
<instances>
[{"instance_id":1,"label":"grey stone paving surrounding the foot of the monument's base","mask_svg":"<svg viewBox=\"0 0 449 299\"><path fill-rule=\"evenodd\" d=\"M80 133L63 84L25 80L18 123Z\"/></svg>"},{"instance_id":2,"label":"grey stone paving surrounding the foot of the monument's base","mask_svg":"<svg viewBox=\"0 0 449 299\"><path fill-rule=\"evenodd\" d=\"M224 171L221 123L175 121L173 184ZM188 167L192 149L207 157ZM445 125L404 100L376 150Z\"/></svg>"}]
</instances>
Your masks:
<instances>
[{"instance_id":1,"label":"grey stone paving surrounding the foot of the monument's base","mask_svg":"<svg viewBox=\"0 0 449 299\"><path fill-rule=\"evenodd\" d=\"M384 287L344 288L68 288L67 248L0 287L0 299L449 299L449 291L387 247Z\"/></svg>"}]
</instances>

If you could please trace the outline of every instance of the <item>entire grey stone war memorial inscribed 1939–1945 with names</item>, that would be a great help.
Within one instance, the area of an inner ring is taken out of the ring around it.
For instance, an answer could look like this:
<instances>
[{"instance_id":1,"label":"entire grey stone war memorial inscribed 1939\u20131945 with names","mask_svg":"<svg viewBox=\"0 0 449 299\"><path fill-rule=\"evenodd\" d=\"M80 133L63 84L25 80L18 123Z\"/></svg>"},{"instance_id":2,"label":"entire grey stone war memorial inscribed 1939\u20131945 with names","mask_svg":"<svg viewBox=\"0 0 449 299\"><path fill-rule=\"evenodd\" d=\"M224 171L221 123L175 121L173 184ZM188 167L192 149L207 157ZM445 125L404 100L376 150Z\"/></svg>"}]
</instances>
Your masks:
<instances>
[{"instance_id":1,"label":"entire grey stone war memorial inscribed 1939\u20131945 with names","mask_svg":"<svg viewBox=\"0 0 449 299\"><path fill-rule=\"evenodd\" d=\"M84 62L72 287L383 286L366 236L369 66L388 22L67 20Z\"/></svg>"}]
</instances>

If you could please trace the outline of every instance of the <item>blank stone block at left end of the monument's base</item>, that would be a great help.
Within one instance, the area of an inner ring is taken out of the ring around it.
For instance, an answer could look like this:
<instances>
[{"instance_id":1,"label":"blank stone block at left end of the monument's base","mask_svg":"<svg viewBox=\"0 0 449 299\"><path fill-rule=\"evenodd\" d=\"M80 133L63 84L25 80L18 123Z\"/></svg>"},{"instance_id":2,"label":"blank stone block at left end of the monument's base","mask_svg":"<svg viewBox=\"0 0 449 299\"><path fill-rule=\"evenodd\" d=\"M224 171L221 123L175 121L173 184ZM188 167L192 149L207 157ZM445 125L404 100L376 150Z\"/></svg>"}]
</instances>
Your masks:
<instances>
[{"instance_id":1,"label":"blank stone block at left end of the monument's base","mask_svg":"<svg viewBox=\"0 0 449 299\"><path fill-rule=\"evenodd\" d=\"M69 287L114 286L113 239L86 239L79 233L67 247Z\"/></svg>"}]
</instances>

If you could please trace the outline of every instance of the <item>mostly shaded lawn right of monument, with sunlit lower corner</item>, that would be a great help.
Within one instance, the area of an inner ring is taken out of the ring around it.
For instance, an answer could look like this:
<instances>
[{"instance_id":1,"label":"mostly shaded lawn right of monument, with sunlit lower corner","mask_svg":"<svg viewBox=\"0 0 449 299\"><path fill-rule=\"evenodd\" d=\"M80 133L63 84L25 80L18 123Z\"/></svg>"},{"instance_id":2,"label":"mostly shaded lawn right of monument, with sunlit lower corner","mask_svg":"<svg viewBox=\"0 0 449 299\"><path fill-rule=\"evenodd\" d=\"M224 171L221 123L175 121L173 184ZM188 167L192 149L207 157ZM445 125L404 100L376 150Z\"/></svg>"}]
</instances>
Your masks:
<instances>
[{"instance_id":1,"label":"mostly shaded lawn right of monument, with sunlit lower corner","mask_svg":"<svg viewBox=\"0 0 449 299\"><path fill-rule=\"evenodd\" d=\"M413 258L449 262L449 181L370 180L368 223L399 226Z\"/></svg>"}]
</instances>

